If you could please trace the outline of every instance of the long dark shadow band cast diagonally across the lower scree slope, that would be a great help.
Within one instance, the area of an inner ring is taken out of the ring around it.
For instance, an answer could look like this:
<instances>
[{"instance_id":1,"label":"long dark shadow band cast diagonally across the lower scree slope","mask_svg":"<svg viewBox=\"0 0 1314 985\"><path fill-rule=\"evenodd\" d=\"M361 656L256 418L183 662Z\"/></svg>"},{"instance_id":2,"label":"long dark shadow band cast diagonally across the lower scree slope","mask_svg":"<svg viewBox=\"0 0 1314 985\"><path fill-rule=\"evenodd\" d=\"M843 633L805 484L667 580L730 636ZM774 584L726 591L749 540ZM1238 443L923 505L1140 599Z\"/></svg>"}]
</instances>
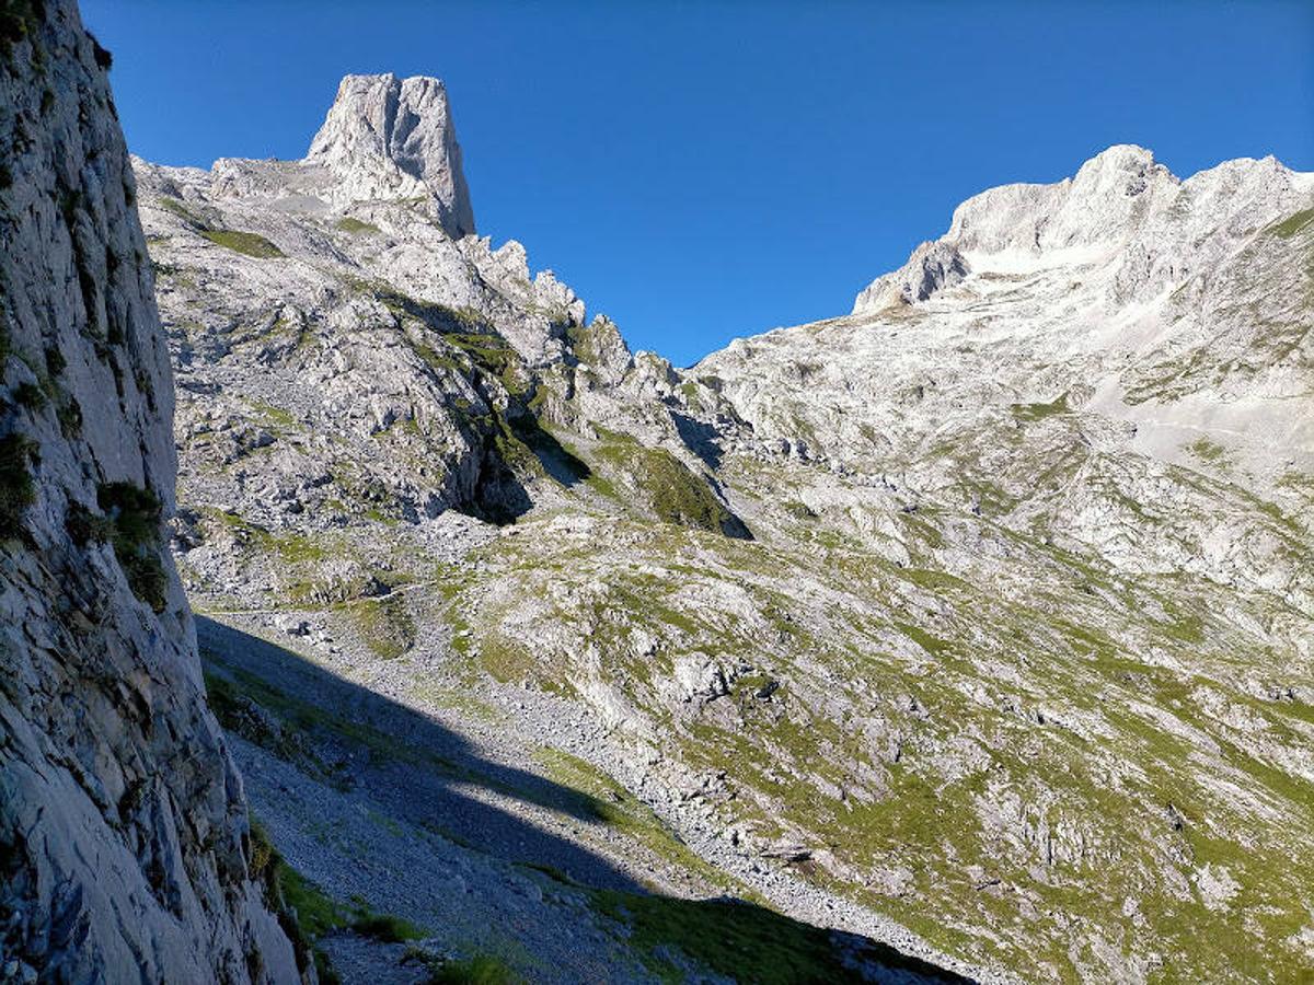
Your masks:
<instances>
[{"instance_id":1,"label":"long dark shadow band cast diagonally across the lower scree slope","mask_svg":"<svg viewBox=\"0 0 1314 985\"><path fill-rule=\"evenodd\" d=\"M597 797L490 762L432 718L290 650L204 616L196 624L210 703L225 729L343 796L368 793L392 818L583 893L594 913L620 925L620 938L654 978L689 977L670 960L670 948L678 948L738 981L968 981L887 944L756 904L653 893L611 860L481 800L480 791L603 823L607 805ZM506 932L514 936L515 929Z\"/></svg>"}]
</instances>

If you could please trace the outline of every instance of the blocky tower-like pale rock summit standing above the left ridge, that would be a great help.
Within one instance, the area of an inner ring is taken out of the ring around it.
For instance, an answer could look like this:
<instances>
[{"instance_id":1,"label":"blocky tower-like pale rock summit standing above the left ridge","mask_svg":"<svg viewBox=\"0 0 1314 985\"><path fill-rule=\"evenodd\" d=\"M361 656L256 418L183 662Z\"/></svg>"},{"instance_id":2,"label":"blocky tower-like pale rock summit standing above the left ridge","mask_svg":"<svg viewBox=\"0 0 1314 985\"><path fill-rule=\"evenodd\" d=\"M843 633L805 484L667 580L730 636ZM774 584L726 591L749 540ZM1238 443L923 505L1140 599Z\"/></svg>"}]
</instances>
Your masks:
<instances>
[{"instance_id":1,"label":"blocky tower-like pale rock summit standing above the left ridge","mask_svg":"<svg viewBox=\"0 0 1314 985\"><path fill-rule=\"evenodd\" d=\"M453 239L474 232L447 88L439 79L348 75L306 163L335 179L335 198L430 197Z\"/></svg>"}]
</instances>

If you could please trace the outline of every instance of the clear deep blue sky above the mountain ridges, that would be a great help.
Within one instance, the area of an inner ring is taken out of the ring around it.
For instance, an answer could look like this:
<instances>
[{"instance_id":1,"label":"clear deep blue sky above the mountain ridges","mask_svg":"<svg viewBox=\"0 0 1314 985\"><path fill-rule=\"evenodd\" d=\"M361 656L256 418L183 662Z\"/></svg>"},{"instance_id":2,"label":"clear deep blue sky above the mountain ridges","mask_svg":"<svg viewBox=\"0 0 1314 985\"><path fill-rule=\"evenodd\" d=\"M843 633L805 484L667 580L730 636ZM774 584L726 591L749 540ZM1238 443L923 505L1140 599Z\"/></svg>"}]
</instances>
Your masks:
<instances>
[{"instance_id":1,"label":"clear deep blue sky above the mountain ridges","mask_svg":"<svg viewBox=\"0 0 1314 985\"><path fill-rule=\"evenodd\" d=\"M133 151L300 158L346 72L438 75L481 234L690 362L842 314L961 200L1110 143L1314 169L1314 3L83 0Z\"/></svg>"}]
</instances>

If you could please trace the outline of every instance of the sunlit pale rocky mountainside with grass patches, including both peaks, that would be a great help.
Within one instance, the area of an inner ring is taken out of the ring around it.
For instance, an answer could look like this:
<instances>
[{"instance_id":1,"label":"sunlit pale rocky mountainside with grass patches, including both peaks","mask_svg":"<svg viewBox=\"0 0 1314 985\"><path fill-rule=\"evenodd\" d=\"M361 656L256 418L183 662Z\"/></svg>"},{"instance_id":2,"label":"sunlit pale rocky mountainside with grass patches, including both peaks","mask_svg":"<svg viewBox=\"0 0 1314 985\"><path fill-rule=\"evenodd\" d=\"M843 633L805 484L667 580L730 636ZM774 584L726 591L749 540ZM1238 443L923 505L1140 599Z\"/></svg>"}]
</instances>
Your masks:
<instances>
[{"instance_id":1,"label":"sunlit pale rocky mountainside with grass patches, including both peaks","mask_svg":"<svg viewBox=\"0 0 1314 985\"><path fill-rule=\"evenodd\" d=\"M643 968L706 959L675 914L714 892L984 980L1314 967L1311 176L1113 147L964 202L850 315L678 370L473 234L434 80L348 77L302 162L137 173L184 582L356 695L298 711L273 661L209 658L330 896L544 974L506 944L530 917L380 902L335 808L280 793L338 771L409 831L332 751L382 696L561 841L463 871L547 865L595 927L598 859L657 890L623 908L669 908L629 925ZM469 833L430 834L456 864Z\"/></svg>"}]
</instances>

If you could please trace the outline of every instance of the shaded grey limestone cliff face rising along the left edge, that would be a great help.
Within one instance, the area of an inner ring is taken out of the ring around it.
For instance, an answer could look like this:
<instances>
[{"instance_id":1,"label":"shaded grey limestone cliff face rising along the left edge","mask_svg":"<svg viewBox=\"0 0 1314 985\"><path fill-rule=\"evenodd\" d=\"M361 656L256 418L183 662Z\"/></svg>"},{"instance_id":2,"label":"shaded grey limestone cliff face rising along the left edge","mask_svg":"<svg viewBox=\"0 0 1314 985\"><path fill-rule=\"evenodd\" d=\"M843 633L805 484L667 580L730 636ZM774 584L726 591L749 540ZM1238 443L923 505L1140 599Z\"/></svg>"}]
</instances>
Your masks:
<instances>
[{"instance_id":1,"label":"shaded grey limestone cliff face rising along the left edge","mask_svg":"<svg viewBox=\"0 0 1314 985\"><path fill-rule=\"evenodd\" d=\"M72 0L3 11L0 980L298 981L163 537L173 391L109 55Z\"/></svg>"}]
</instances>

